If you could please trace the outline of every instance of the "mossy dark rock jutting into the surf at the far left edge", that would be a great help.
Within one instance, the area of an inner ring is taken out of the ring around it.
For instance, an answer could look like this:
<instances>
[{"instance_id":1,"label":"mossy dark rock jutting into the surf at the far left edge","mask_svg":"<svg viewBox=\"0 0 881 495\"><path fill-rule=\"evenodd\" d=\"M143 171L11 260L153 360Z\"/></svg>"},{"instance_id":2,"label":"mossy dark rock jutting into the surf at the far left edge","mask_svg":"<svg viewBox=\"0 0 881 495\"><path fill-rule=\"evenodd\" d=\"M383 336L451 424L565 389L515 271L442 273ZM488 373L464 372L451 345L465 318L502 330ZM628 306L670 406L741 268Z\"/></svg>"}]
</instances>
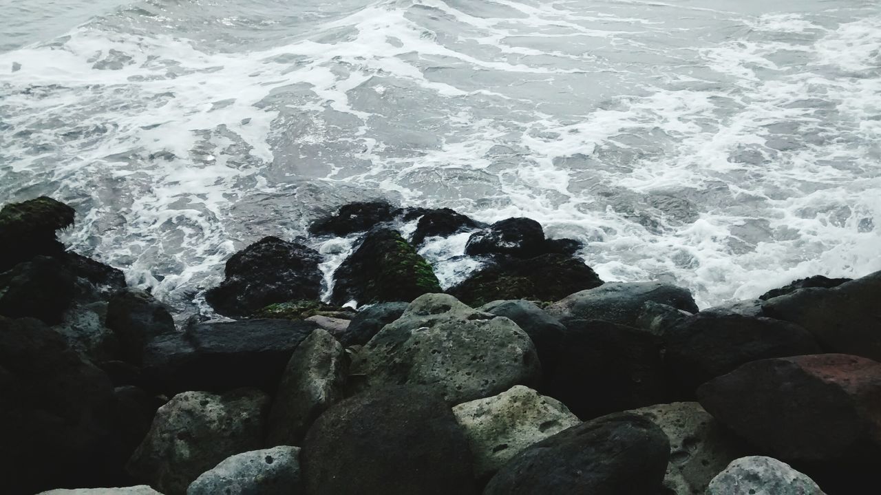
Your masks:
<instances>
[{"instance_id":1,"label":"mossy dark rock jutting into the surf at the far left edge","mask_svg":"<svg viewBox=\"0 0 881 495\"><path fill-rule=\"evenodd\" d=\"M37 255L61 256L56 230L73 225L75 211L48 196L6 204L0 210L0 271Z\"/></svg>"}]
</instances>

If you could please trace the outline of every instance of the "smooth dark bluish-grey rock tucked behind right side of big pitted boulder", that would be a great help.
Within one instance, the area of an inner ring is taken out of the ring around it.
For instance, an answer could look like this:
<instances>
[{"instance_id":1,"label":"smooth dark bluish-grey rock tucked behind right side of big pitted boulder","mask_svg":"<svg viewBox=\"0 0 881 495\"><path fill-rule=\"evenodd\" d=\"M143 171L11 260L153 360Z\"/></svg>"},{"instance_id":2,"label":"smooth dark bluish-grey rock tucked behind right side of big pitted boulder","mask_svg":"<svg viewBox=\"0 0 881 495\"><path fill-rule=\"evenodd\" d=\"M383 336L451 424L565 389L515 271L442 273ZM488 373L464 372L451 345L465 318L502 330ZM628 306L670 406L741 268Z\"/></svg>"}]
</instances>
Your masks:
<instances>
[{"instance_id":1,"label":"smooth dark bluish-grey rock tucked behind right side of big pitted boulder","mask_svg":"<svg viewBox=\"0 0 881 495\"><path fill-rule=\"evenodd\" d=\"M545 376L553 373L559 359L559 346L566 327L528 300L497 300L478 307L478 311L497 314L514 321L536 346Z\"/></svg>"}]
</instances>

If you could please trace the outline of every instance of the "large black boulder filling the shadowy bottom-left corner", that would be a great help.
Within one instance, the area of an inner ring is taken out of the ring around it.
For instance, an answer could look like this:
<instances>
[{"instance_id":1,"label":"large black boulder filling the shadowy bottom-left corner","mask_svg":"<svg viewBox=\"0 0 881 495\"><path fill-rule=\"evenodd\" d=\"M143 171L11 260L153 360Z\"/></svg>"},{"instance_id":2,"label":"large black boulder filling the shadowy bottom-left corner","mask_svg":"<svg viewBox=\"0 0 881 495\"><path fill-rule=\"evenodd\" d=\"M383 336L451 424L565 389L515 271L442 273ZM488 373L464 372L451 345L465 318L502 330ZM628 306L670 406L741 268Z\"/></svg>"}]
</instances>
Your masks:
<instances>
[{"instance_id":1,"label":"large black boulder filling the shadowy bottom-left corner","mask_svg":"<svg viewBox=\"0 0 881 495\"><path fill-rule=\"evenodd\" d=\"M0 317L0 391L4 493L107 486L122 472L110 380L41 321Z\"/></svg>"}]
</instances>

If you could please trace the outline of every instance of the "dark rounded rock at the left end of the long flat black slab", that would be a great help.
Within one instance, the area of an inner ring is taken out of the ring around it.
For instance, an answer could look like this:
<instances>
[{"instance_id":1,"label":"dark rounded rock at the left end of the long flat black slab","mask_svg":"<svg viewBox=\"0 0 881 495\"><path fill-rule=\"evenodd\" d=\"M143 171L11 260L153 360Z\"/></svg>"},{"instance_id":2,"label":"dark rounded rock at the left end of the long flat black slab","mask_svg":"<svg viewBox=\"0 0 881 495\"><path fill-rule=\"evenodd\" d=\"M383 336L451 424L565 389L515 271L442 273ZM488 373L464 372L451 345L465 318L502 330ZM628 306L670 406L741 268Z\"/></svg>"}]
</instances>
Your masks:
<instances>
[{"instance_id":1,"label":"dark rounded rock at the left end of the long flat black slab","mask_svg":"<svg viewBox=\"0 0 881 495\"><path fill-rule=\"evenodd\" d=\"M168 308L139 289L123 289L110 299L106 324L119 342L122 357L136 365L141 364L144 346L154 337L177 332Z\"/></svg>"}]
</instances>

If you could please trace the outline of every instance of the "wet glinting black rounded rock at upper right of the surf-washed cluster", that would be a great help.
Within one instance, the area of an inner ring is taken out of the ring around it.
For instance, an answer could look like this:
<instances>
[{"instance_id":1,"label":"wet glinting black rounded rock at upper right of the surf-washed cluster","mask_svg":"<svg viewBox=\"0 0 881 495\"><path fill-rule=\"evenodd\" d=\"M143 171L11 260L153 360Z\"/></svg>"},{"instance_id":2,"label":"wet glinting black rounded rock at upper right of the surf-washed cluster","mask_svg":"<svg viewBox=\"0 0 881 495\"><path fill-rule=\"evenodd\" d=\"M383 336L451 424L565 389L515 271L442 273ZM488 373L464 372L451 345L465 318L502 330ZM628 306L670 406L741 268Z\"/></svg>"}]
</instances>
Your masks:
<instances>
[{"instance_id":1,"label":"wet glinting black rounded rock at upper right of the surf-washed cluster","mask_svg":"<svg viewBox=\"0 0 881 495\"><path fill-rule=\"evenodd\" d=\"M531 258L542 254L544 229L531 218L507 218L471 234L466 255L511 255Z\"/></svg>"}]
</instances>

